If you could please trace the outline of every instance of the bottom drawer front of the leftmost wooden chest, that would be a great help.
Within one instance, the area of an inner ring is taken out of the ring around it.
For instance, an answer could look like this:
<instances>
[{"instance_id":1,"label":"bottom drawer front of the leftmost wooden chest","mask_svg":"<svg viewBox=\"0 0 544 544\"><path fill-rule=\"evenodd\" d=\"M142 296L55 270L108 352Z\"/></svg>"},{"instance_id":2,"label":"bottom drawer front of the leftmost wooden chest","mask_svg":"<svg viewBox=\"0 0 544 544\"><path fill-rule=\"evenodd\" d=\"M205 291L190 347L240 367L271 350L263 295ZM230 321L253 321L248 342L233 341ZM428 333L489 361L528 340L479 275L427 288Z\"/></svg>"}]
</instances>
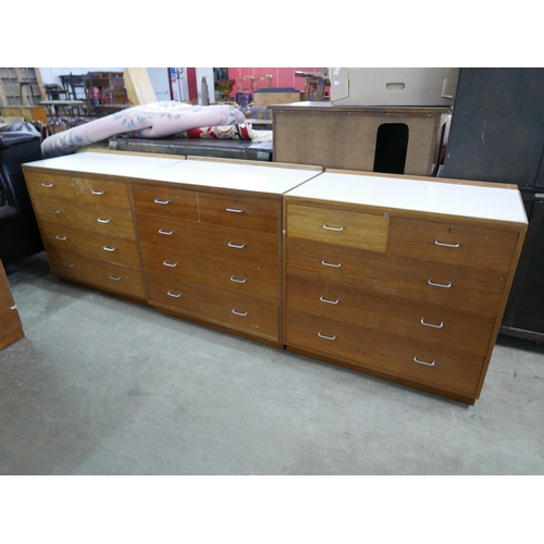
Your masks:
<instances>
[{"instance_id":1,"label":"bottom drawer front of the leftmost wooden chest","mask_svg":"<svg viewBox=\"0 0 544 544\"><path fill-rule=\"evenodd\" d=\"M53 274L113 293L146 299L140 270L112 262L96 261L57 249L48 250L47 256Z\"/></svg>"}]
</instances>

